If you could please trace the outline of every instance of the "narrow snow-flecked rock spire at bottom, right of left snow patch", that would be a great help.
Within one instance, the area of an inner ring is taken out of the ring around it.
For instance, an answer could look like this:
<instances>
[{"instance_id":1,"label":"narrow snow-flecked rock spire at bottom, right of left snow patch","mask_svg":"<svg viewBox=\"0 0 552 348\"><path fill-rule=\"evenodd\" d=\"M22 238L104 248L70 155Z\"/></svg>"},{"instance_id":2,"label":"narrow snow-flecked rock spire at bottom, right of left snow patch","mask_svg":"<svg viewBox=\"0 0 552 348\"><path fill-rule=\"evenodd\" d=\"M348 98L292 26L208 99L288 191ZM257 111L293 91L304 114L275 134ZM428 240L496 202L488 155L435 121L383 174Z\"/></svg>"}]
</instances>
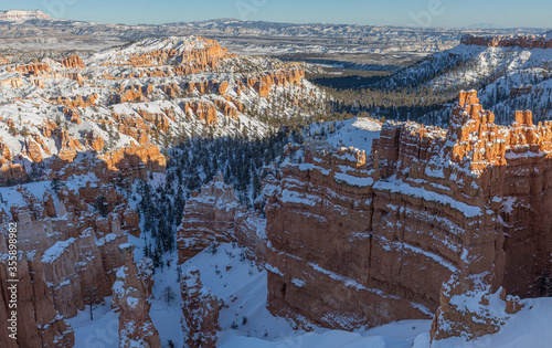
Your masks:
<instances>
[{"instance_id":1,"label":"narrow snow-flecked rock spire at bottom, right of left snow patch","mask_svg":"<svg viewBox=\"0 0 552 348\"><path fill-rule=\"evenodd\" d=\"M151 305L147 300L151 284L148 278L138 276L134 246L119 245L119 252L125 265L117 271L117 281L113 285L113 307L119 312L119 347L159 348L161 341L149 317Z\"/></svg>"}]
</instances>

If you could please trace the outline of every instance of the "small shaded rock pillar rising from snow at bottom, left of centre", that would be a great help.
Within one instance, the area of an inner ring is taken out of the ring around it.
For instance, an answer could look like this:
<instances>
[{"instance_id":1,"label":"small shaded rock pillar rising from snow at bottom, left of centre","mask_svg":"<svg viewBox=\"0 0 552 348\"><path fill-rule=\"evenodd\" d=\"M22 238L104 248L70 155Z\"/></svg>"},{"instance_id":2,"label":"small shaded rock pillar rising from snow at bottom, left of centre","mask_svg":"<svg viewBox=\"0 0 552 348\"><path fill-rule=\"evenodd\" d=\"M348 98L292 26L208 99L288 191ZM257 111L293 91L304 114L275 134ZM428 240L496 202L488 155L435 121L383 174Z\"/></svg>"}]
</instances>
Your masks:
<instances>
[{"instance_id":1,"label":"small shaded rock pillar rising from snow at bottom, left of centre","mask_svg":"<svg viewBox=\"0 0 552 348\"><path fill-rule=\"evenodd\" d=\"M216 347L221 304L200 280L198 268L189 268L180 281L182 292L182 330L191 348Z\"/></svg>"}]
</instances>

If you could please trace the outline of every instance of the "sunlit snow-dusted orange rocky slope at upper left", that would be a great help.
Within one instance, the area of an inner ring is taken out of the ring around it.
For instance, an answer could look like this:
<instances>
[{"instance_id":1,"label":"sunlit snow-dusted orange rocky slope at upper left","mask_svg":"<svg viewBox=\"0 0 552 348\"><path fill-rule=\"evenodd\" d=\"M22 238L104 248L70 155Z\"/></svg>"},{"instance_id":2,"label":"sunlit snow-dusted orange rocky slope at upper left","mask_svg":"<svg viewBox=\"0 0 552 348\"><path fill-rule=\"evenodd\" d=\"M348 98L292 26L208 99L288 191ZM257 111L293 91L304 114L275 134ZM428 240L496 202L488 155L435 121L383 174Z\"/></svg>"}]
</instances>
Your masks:
<instances>
[{"instance_id":1,"label":"sunlit snow-dusted orange rocky slope at upper left","mask_svg":"<svg viewBox=\"0 0 552 348\"><path fill-rule=\"evenodd\" d=\"M269 122L325 107L300 68L237 57L201 38L7 64L0 80L4 182L24 179L33 162L59 171L88 155L105 162L91 168L140 177L164 167L160 146L191 136L264 135L274 129Z\"/></svg>"}]
</instances>

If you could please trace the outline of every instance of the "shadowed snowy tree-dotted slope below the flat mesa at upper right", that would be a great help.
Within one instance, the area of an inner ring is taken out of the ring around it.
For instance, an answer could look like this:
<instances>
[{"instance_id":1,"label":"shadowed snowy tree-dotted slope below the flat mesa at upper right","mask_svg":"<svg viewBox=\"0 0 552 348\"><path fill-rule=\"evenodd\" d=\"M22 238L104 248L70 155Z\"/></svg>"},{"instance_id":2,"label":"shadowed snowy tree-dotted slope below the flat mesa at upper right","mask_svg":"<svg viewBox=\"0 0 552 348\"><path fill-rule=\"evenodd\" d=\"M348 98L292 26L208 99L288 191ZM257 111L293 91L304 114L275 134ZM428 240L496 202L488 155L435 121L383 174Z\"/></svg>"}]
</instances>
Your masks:
<instances>
[{"instance_id":1,"label":"shadowed snowy tree-dotted slope below the flat mesa at upper right","mask_svg":"<svg viewBox=\"0 0 552 348\"><path fill-rule=\"evenodd\" d=\"M383 80L380 87L428 88L429 94L445 96L446 102L433 112L399 115L404 120L446 127L458 91L476 88L497 115L497 124L510 124L510 115L519 109L531 109L537 122L544 122L552 113L551 65L550 35L465 35L457 46Z\"/></svg>"}]
</instances>

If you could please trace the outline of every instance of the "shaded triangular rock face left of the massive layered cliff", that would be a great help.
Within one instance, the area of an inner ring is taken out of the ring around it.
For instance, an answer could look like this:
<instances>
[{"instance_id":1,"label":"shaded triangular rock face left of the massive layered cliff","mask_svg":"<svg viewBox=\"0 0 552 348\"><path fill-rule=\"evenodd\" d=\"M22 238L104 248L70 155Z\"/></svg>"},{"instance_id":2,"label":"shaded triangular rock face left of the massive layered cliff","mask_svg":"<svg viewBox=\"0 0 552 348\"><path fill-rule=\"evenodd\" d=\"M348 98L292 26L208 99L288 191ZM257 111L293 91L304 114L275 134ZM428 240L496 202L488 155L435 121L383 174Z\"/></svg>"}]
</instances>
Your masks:
<instances>
[{"instance_id":1,"label":"shaded triangular rock face left of the massive layered cliff","mask_svg":"<svg viewBox=\"0 0 552 348\"><path fill-rule=\"evenodd\" d=\"M264 259L263 225L261 217L240 204L234 188L219 175L185 203L182 224L177 231L179 264L213 243L230 242L246 247L251 259Z\"/></svg>"}]
</instances>

